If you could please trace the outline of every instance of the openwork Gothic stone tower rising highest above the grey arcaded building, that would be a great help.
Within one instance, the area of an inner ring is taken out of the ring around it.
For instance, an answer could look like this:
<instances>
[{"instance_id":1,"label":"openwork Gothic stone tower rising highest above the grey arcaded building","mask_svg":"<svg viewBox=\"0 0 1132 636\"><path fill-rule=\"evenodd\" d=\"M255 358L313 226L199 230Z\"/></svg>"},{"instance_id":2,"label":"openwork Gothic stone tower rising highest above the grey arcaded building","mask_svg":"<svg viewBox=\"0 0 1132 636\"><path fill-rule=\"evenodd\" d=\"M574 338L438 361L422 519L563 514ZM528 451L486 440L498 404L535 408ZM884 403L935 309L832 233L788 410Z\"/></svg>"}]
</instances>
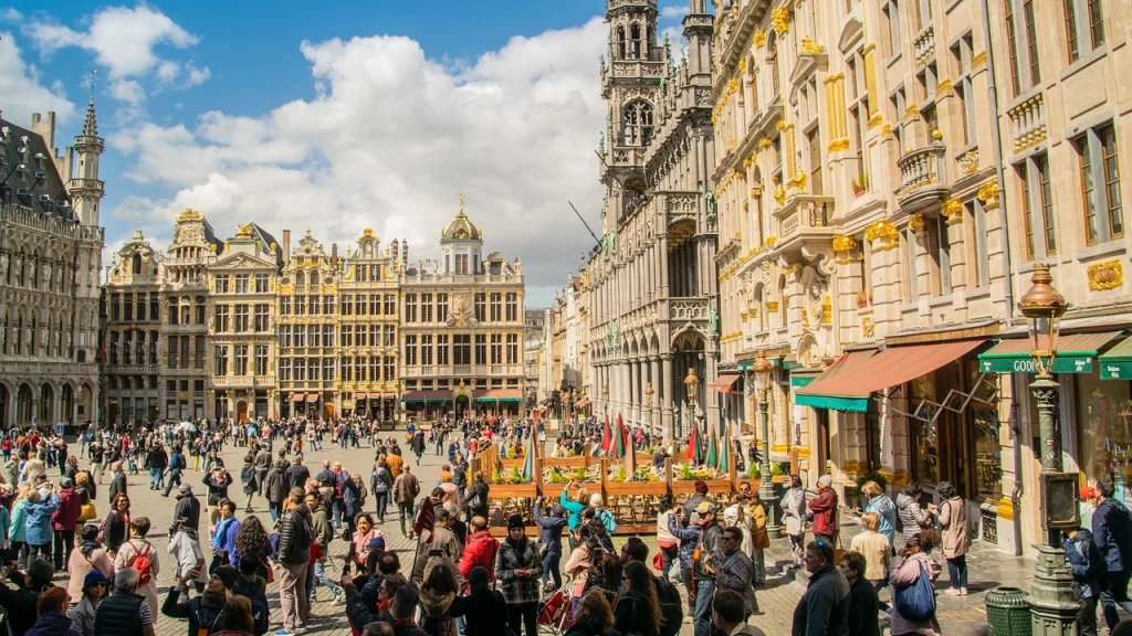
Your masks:
<instances>
[{"instance_id":1,"label":"openwork Gothic stone tower rising highest above the grey arcaded building","mask_svg":"<svg viewBox=\"0 0 1132 636\"><path fill-rule=\"evenodd\" d=\"M661 87L668 60L657 43L657 0L608 0L609 48L601 58L601 96L606 130L600 152L604 232L643 203L645 149L660 117Z\"/></svg>"}]
</instances>

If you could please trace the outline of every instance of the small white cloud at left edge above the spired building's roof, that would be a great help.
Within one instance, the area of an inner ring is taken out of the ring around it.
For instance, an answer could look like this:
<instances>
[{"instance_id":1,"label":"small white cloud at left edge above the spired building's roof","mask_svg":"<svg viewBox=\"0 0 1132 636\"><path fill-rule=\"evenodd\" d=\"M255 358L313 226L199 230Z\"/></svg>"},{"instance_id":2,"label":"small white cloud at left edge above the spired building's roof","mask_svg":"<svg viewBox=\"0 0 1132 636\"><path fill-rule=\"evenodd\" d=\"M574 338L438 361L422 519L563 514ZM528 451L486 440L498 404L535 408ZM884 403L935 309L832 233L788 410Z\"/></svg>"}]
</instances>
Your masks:
<instances>
[{"instance_id":1,"label":"small white cloud at left edge above the spired building's roof","mask_svg":"<svg viewBox=\"0 0 1132 636\"><path fill-rule=\"evenodd\" d=\"M55 111L59 123L76 114L75 104L55 81L45 87L36 68L24 61L10 33L0 32L0 95L3 117L19 126L31 126L33 112Z\"/></svg>"}]
</instances>

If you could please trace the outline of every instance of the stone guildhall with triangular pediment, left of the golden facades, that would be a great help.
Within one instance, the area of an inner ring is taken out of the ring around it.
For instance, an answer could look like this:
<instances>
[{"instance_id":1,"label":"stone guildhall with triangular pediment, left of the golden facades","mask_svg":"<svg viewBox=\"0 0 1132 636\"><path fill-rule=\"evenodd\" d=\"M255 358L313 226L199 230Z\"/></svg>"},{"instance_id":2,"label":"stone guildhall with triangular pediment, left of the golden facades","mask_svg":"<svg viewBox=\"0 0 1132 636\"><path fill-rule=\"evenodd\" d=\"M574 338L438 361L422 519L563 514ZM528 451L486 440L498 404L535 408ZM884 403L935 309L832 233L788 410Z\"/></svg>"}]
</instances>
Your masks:
<instances>
[{"instance_id":1,"label":"stone guildhall with triangular pediment, left of the golden facades","mask_svg":"<svg viewBox=\"0 0 1132 636\"><path fill-rule=\"evenodd\" d=\"M275 330L276 285L283 267L283 249L255 223L240 225L235 237L224 241L206 269L211 371L206 390L212 394L208 418L243 421L274 418L278 412ZM298 276L297 276L298 280ZM317 281L308 294L321 299L327 283ZM333 281L329 283L333 285ZM319 310L319 315L321 310ZM318 353L311 353L320 360ZM324 396L312 404L321 409Z\"/></svg>"}]
</instances>

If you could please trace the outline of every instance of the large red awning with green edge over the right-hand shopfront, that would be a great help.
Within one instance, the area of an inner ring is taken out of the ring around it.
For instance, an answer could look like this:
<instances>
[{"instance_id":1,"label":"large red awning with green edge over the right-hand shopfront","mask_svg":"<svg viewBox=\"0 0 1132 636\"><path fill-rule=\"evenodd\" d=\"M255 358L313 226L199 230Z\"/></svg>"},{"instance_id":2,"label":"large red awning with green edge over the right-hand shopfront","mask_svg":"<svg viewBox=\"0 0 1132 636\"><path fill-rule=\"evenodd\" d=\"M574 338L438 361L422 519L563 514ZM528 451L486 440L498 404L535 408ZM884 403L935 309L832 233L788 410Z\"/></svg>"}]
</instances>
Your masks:
<instances>
[{"instance_id":1,"label":"large red awning with green edge over the right-hand shopfront","mask_svg":"<svg viewBox=\"0 0 1132 636\"><path fill-rule=\"evenodd\" d=\"M868 409L874 392L902 385L975 351L986 341L892 346L881 353L855 351L833 363L809 386L795 390L795 403L815 409Z\"/></svg>"}]
</instances>

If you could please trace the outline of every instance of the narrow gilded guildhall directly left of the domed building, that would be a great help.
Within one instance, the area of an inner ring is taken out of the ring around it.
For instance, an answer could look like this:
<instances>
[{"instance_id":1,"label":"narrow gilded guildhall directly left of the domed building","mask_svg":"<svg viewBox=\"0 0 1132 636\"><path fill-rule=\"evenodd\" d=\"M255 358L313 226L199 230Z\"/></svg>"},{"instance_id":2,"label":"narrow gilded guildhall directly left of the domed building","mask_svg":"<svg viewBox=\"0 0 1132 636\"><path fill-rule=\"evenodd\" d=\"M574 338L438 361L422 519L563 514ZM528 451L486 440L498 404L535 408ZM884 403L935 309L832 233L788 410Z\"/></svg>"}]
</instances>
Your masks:
<instances>
[{"instance_id":1,"label":"narrow gilded guildhall directly left of the domed building","mask_svg":"<svg viewBox=\"0 0 1132 636\"><path fill-rule=\"evenodd\" d=\"M397 415L401 397L398 353L398 273L409 243L394 239L381 249L371 230L348 248L341 293L342 412L381 420Z\"/></svg>"}]
</instances>

